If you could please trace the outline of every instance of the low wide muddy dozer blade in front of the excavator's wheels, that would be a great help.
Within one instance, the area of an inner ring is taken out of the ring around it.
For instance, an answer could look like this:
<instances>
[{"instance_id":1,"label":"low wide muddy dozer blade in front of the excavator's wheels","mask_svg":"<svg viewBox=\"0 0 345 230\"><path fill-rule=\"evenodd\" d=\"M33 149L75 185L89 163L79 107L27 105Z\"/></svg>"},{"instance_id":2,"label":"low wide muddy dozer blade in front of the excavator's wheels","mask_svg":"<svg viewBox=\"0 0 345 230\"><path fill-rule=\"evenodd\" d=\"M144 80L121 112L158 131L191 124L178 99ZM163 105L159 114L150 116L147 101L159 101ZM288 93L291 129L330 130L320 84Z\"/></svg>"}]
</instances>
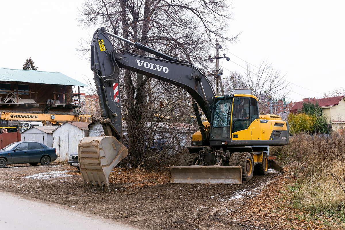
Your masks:
<instances>
[{"instance_id":1,"label":"low wide muddy dozer blade in front of the excavator's wheels","mask_svg":"<svg viewBox=\"0 0 345 230\"><path fill-rule=\"evenodd\" d=\"M241 166L174 166L170 183L242 184Z\"/></svg>"}]
</instances>

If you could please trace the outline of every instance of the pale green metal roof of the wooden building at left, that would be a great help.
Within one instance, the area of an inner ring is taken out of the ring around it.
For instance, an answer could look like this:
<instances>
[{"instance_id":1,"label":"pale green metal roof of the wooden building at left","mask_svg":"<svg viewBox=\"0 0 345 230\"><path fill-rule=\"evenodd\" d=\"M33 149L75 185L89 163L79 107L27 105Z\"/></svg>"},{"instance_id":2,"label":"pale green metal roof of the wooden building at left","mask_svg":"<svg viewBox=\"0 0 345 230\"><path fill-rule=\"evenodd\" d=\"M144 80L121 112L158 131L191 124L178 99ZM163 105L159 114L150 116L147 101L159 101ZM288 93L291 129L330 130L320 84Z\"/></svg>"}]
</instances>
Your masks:
<instances>
[{"instance_id":1,"label":"pale green metal roof of the wooden building at left","mask_svg":"<svg viewBox=\"0 0 345 230\"><path fill-rule=\"evenodd\" d=\"M0 81L22 81L30 83L58 84L66 86L88 86L60 72L0 68Z\"/></svg>"}]
</instances>

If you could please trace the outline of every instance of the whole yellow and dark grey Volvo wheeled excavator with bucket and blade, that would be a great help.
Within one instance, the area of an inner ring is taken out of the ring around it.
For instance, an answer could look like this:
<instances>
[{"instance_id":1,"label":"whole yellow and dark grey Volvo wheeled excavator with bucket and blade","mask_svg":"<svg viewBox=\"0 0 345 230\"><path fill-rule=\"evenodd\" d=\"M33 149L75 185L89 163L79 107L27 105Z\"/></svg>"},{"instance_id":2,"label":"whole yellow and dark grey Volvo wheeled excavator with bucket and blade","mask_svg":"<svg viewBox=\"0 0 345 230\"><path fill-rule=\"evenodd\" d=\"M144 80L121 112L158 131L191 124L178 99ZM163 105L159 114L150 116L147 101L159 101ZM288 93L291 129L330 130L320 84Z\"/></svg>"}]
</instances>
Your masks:
<instances>
[{"instance_id":1,"label":"whole yellow and dark grey Volvo wheeled excavator with bucket and blade","mask_svg":"<svg viewBox=\"0 0 345 230\"><path fill-rule=\"evenodd\" d=\"M114 49L108 36L157 58ZM113 86L119 84L119 68L179 86L193 98L200 128L191 138L189 159L193 161L186 161L186 166L171 167L171 183L242 183L252 179L254 169L258 174L266 174L269 167L281 169L268 160L267 146L289 143L288 123L277 115L259 115L255 96L216 96L208 79L193 64L121 38L102 27L93 34L91 70L105 137L85 137L79 143L79 166L85 184L109 189L111 170L128 154L122 144L120 98L114 99ZM207 121L202 121L198 108Z\"/></svg>"}]
</instances>

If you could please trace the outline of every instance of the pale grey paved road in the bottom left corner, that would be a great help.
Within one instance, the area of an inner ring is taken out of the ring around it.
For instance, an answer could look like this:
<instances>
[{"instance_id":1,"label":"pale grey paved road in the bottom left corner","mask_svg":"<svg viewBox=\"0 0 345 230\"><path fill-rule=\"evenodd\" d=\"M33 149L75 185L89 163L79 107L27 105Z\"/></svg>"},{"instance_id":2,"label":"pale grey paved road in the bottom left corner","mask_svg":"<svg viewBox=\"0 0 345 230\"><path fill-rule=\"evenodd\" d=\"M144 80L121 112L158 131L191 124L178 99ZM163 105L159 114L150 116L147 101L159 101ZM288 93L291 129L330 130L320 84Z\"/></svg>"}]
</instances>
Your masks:
<instances>
[{"instance_id":1,"label":"pale grey paved road in the bottom left corner","mask_svg":"<svg viewBox=\"0 0 345 230\"><path fill-rule=\"evenodd\" d=\"M0 229L25 230L139 230L59 204L0 192Z\"/></svg>"}]
</instances>

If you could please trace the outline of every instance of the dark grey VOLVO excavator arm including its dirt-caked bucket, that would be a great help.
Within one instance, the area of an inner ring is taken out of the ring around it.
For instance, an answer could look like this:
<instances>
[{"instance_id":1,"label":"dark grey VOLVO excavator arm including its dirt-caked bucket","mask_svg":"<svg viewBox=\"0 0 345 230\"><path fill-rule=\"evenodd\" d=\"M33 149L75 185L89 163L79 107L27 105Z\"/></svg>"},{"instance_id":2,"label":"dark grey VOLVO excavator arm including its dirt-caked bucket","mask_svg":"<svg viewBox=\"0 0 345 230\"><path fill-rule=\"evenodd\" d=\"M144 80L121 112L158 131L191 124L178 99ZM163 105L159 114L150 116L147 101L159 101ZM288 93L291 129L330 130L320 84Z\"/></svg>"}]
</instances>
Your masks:
<instances>
[{"instance_id":1,"label":"dark grey VOLVO excavator arm including its dirt-caked bucket","mask_svg":"<svg viewBox=\"0 0 345 230\"><path fill-rule=\"evenodd\" d=\"M109 36L134 45L158 58L139 56L125 49L114 49ZM105 137L83 138L78 146L78 159L85 183L108 187L108 177L116 164L127 156L122 144L122 122L119 97L119 68L124 68L185 89L211 120L211 106L215 93L210 82L197 67L187 61L167 56L140 43L131 42L105 30L98 29L91 43L91 70L99 97ZM205 139L205 127L199 117L200 131Z\"/></svg>"}]
</instances>

